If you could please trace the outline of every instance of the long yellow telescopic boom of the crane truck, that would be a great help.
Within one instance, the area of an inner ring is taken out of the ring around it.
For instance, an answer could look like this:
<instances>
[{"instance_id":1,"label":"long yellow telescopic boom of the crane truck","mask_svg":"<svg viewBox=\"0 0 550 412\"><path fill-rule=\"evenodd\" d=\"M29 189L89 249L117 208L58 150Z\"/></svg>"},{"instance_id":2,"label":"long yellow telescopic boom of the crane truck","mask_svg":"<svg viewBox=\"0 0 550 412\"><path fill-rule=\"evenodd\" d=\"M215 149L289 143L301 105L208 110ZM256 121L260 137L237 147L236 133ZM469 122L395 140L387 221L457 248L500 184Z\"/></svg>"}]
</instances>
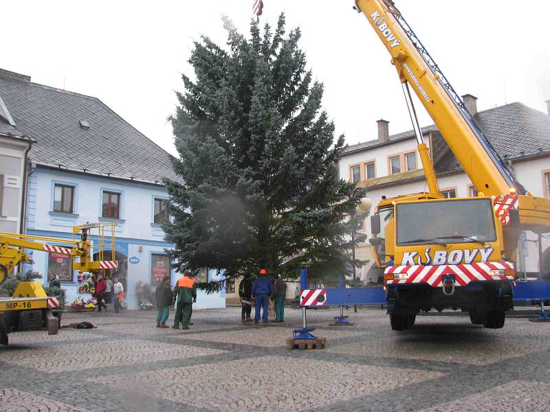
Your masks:
<instances>
[{"instance_id":1,"label":"long yellow telescopic boom of the crane truck","mask_svg":"<svg viewBox=\"0 0 550 412\"><path fill-rule=\"evenodd\" d=\"M390 52L401 82L412 85L476 189L491 196L506 194L511 187L525 193L393 2L355 4Z\"/></svg>"}]
</instances>

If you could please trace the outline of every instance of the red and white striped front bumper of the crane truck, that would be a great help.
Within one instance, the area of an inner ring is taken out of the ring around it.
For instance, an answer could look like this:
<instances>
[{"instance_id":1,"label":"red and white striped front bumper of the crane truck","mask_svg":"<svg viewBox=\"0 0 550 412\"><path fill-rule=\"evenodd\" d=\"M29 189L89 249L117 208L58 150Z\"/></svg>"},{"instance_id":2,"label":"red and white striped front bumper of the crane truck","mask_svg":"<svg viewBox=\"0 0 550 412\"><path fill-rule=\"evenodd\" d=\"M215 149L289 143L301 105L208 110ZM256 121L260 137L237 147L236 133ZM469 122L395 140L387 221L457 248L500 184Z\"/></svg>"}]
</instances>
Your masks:
<instances>
[{"instance_id":1,"label":"red and white striped front bumper of the crane truck","mask_svg":"<svg viewBox=\"0 0 550 412\"><path fill-rule=\"evenodd\" d=\"M440 266L389 266L384 275L393 279L385 284L429 284L434 288L443 286L443 275L454 275L456 286L465 286L478 280L514 280L514 275L503 275L504 269L514 269L511 262L485 262L472 264L442 264Z\"/></svg>"}]
</instances>

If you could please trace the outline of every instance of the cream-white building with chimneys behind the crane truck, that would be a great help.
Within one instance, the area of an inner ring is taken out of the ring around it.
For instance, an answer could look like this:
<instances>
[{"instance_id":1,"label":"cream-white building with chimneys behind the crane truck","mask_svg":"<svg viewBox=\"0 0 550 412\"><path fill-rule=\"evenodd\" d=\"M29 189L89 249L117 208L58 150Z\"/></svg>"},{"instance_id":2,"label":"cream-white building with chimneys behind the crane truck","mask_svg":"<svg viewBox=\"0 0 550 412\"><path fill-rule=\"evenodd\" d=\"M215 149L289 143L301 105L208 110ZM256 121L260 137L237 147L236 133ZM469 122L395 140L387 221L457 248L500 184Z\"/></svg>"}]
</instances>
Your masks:
<instances>
[{"instance_id":1,"label":"cream-white building with chimneys behind the crane truck","mask_svg":"<svg viewBox=\"0 0 550 412\"><path fill-rule=\"evenodd\" d=\"M478 113L476 98L463 96L470 112L476 117L485 136L507 161L516 177L534 196L550 198L550 100L548 115L520 103L490 108ZM366 187L373 205L401 194L428 191L412 130L389 135L388 122L377 122L377 139L346 146L340 155L340 177ZM442 194L448 197L475 194L468 176L450 152L436 126L422 128L426 144L437 174ZM373 206L374 207L374 206ZM366 219L366 234L370 236L370 222ZM539 238L527 232L527 242L520 248L525 264L518 262L518 271L539 271L539 244L542 251L542 271L550 273L550 236ZM539 243L540 242L540 243ZM371 270L374 262L370 244L356 249L359 259L370 260L361 269L361 278L377 282L378 271Z\"/></svg>"}]
</instances>

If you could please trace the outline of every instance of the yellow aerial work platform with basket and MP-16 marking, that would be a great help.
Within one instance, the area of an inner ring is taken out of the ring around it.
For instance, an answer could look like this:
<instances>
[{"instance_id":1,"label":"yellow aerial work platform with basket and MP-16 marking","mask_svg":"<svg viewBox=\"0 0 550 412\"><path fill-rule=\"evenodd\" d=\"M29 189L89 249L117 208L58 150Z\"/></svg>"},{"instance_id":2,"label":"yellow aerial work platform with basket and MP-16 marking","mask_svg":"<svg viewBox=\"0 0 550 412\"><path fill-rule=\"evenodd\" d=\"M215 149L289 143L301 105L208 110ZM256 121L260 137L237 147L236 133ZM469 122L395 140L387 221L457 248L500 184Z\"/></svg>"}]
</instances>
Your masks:
<instances>
[{"instance_id":1,"label":"yellow aerial work platform with basket and MP-16 marking","mask_svg":"<svg viewBox=\"0 0 550 412\"><path fill-rule=\"evenodd\" d=\"M97 234L94 231L97 229ZM20 263L32 263L24 249L54 252L72 257L72 269L80 273L115 269L115 224L87 223L73 227L72 239L49 238L45 236L22 235L0 232L0 284L5 282L10 272ZM63 245L63 246L60 246ZM104 251L108 247L109 251ZM93 252L98 260L93 260ZM110 255L109 255L110 253ZM110 258L109 260L104 260ZM8 345L8 332L14 325L14 315L21 317L23 312L34 311L45 320L49 334L56 334L58 319L50 309L58 306L56 297L48 297L40 282L21 282L13 297L0 297L0 344ZM41 312L40 314L38 312ZM10 319L10 322L6 322Z\"/></svg>"}]
</instances>

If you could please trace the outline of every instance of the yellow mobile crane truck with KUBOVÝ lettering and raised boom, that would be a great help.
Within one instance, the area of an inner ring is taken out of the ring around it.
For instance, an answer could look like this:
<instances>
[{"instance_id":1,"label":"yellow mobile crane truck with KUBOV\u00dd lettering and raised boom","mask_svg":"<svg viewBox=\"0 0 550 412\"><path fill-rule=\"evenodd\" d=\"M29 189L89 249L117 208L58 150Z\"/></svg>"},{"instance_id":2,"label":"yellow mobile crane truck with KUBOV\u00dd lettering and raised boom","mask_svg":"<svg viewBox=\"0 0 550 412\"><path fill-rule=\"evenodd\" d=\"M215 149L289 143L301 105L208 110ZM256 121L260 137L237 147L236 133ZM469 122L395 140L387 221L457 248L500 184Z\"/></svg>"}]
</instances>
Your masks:
<instances>
[{"instance_id":1,"label":"yellow mobile crane truck with KUBOV\u00dd lettering and raised boom","mask_svg":"<svg viewBox=\"0 0 550 412\"><path fill-rule=\"evenodd\" d=\"M355 0L355 10L391 54L429 190L384 199L371 216L391 326L410 328L420 310L461 308L472 323L502 328L512 307L518 235L550 231L550 201L518 183L393 1ZM448 199L439 193L408 84L478 196Z\"/></svg>"}]
</instances>

